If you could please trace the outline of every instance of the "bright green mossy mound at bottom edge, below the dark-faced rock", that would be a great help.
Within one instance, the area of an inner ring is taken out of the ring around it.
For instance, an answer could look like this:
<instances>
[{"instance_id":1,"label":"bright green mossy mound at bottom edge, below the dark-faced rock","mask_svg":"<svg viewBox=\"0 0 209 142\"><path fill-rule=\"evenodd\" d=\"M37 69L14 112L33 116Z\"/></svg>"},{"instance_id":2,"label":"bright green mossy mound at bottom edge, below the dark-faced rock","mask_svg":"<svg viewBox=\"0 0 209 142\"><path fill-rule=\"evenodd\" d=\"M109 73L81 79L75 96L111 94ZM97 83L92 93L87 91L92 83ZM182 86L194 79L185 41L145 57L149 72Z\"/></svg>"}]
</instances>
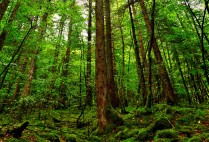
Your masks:
<instances>
[{"instance_id":1,"label":"bright green mossy mound at bottom edge, below the dark-faced rock","mask_svg":"<svg viewBox=\"0 0 209 142\"><path fill-rule=\"evenodd\" d=\"M167 138L171 141L179 140L178 132L173 129L164 129L157 131L154 139L156 140L158 138Z\"/></svg>"}]
</instances>

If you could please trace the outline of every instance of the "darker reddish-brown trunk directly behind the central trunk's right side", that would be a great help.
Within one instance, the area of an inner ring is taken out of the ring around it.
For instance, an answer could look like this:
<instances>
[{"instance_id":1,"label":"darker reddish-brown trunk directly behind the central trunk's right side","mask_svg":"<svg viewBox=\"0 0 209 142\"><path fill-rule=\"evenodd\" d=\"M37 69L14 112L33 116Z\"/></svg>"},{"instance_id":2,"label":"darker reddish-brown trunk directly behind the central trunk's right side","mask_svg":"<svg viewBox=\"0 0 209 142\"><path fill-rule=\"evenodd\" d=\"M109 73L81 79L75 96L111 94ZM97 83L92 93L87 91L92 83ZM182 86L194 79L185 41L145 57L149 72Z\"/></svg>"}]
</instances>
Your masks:
<instances>
[{"instance_id":1,"label":"darker reddish-brown trunk directly behind the central trunk's right side","mask_svg":"<svg viewBox=\"0 0 209 142\"><path fill-rule=\"evenodd\" d=\"M115 108L119 106L119 100L115 91L113 52L112 52L112 30L110 19L110 1L105 0L105 18L106 18L106 56L107 56L107 93L110 97L111 105Z\"/></svg>"}]
</instances>

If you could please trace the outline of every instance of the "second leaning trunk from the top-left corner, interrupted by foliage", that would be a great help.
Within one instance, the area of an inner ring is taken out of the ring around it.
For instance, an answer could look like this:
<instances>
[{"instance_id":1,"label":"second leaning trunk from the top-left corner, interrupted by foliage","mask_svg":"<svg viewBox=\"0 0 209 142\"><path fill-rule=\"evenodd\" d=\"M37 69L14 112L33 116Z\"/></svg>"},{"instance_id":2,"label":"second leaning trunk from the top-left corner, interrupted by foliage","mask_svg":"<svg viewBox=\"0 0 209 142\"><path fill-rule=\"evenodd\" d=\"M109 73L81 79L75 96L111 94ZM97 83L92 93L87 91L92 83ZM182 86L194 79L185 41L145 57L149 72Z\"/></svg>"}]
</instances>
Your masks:
<instances>
[{"instance_id":1,"label":"second leaning trunk from the top-left corner, interrupted by foliage","mask_svg":"<svg viewBox=\"0 0 209 142\"><path fill-rule=\"evenodd\" d=\"M13 9L13 11L12 11L12 14L11 14L11 16L9 18L9 21L8 21L7 25L10 25L13 22L14 17L17 14L17 11L18 11L19 7L20 7L20 2L17 2L15 7L14 7L14 9ZM5 41L6 37L7 37L7 34L8 34L8 31L6 30L6 28L4 28L2 33L1 33L1 35L0 35L0 51L3 48L4 41Z\"/></svg>"}]
</instances>

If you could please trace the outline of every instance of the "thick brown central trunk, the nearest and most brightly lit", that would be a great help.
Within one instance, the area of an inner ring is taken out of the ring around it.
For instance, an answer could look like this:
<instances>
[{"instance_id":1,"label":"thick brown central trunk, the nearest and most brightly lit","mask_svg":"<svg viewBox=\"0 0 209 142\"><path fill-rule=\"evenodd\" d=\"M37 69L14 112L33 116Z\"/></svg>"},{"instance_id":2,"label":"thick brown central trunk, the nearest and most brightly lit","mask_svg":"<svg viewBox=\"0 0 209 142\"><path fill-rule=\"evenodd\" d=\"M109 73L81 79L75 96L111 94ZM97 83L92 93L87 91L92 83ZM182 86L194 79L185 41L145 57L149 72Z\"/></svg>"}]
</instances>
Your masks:
<instances>
[{"instance_id":1,"label":"thick brown central trunk, the nearest and most brightly lit","mask_svg":"<svg viewBox=\"0 0 209 142\"><path fill-rule=\"evenodd\" d=\"M106 85L106 65L104 52L104 13L103 0L96 0L96 101L98 112L98 126L105 129L108 124L106 110L107 85Z\"/></svg>"}]
</instances>

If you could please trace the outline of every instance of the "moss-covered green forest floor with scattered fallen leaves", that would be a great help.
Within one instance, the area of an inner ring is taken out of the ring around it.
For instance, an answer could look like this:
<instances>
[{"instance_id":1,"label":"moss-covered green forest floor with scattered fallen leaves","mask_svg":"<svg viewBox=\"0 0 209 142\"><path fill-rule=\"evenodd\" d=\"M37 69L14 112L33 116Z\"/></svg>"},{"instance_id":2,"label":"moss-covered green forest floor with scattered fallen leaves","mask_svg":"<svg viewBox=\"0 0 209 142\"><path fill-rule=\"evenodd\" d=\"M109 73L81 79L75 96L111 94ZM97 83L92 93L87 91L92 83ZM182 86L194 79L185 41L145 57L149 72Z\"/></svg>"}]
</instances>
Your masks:
<instances>
[{"instance_id":1,"label":"moss-covered green forest floor with scattered fallen leaves","mask_svg":"<svg viewBox=\"0 0 209 142\"><path fill-rule=\"evenodd\" d=\"M209 108L171 107L157 104L152 109L127 107L122 126L109 125L98 135L96 107L69 110L32 109L0 114L0 142L209 142ZM11 130L29 125L20 138Z\"/></svg>"}]
</instances>

